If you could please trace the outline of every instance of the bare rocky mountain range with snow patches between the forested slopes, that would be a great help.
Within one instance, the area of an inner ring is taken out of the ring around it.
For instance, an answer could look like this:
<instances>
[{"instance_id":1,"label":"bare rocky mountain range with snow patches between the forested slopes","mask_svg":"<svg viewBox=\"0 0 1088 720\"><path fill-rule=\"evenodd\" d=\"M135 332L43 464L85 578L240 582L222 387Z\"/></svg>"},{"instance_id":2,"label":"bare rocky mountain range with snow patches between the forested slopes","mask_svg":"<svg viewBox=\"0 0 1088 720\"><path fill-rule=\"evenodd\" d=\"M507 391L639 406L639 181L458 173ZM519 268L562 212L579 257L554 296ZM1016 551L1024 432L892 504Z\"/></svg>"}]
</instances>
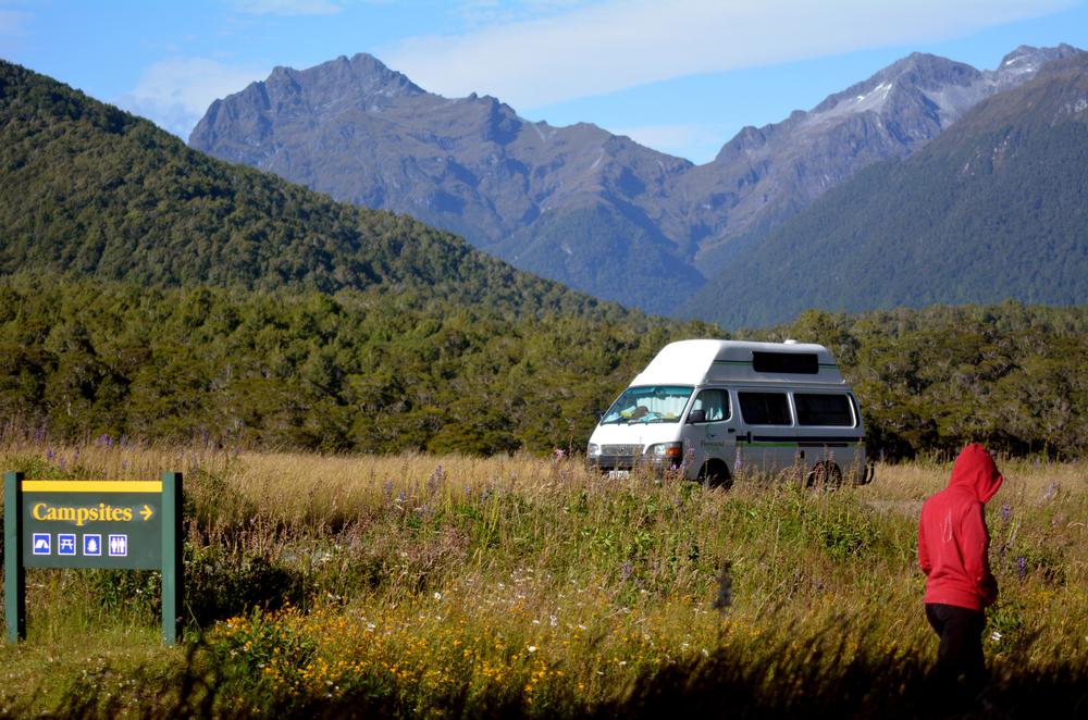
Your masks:
<instances>
[{"instance_id":1,"label":"bare rocky mountain range with snow patches between the forested slopes","mask_svg":"<svg viewBox=\"0 0 1088 720\"><path fill-rule=\"evenodd\" d=\"M672 313L829 188L1077 52L1021 47L996 71L914 53L809 112L744 128L704 165L590 124L533 123L495 98L446 99L367 54L275 69L213 102L189 145Z\"/></svg>"}]
</instances>

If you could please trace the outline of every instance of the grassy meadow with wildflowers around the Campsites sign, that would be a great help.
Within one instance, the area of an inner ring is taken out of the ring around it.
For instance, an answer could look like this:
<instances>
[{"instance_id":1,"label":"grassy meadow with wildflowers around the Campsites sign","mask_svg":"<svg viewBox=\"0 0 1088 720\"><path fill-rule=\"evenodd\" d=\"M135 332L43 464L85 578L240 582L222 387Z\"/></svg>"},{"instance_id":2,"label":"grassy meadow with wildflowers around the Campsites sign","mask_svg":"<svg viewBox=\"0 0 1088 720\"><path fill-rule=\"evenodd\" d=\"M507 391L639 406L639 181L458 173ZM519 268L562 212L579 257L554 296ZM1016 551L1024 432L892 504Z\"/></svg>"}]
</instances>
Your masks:
<instances>
[{"instance_id":1,"label":"grassy meadow with wildflowers around the Campsites sign","mask_svg":"<svg viewBox=\"0 0 1088 720\"><path fill-rule=\"evenodd\" d=\"M27 570L0 717L1088 713L1088 468L999 460L991 682L938 704L916 567L941 458L870 485L588 474L579 459L52 445L0 470L186 493L186 642L159 578Z\"/></svg>"}]
</instances>

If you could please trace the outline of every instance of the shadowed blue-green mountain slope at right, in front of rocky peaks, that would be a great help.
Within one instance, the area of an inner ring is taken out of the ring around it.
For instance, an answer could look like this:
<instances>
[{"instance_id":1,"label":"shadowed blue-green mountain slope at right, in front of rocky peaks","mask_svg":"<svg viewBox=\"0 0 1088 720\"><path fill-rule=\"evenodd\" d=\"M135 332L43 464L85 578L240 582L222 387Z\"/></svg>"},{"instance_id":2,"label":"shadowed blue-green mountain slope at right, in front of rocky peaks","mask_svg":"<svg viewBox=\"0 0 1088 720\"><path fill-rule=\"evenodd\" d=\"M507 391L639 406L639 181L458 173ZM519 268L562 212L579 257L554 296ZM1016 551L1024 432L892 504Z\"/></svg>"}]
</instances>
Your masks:
<instances>
[{"instance_id":1,"label":"shadowed blue-green mountain slope at right, in front of rocky peaks","mask_svg":"<svg viewBox=\"0 0 1088 720\"><path fill-rule=\"evenodd\" d=\"M829 190L678 316L726 327L806 308L1088 302L1088 58L979 102L925 149Z\"/></svg>"}]
</instances>

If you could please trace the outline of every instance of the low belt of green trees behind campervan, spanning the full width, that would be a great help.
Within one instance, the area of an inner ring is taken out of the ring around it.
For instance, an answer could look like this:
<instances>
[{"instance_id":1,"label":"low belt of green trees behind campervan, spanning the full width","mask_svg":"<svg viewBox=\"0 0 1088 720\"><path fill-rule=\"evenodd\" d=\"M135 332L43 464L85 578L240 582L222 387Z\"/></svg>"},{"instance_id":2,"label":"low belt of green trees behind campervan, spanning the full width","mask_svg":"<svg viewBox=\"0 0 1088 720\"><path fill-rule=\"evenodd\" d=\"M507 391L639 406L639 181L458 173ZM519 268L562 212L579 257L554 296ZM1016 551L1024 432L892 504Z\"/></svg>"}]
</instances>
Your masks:
<instances>
[{"instance_id":1,"label":"low belt of green trees behind campervan, spanning the full width","mask_svg":"<svg viewBox=\"0 0 1088 720\"><path fill-rule=\"evenodd\" d=\"M1088 310L807 311L735 335L817 342L891 460L982 440L1070 458L1088 437ZM496 313L392 293L149 289L61 275L0 286L0 408L51 436L337 451L579 452L667 343L700 322Z\"/></svg>"}]
</instances>

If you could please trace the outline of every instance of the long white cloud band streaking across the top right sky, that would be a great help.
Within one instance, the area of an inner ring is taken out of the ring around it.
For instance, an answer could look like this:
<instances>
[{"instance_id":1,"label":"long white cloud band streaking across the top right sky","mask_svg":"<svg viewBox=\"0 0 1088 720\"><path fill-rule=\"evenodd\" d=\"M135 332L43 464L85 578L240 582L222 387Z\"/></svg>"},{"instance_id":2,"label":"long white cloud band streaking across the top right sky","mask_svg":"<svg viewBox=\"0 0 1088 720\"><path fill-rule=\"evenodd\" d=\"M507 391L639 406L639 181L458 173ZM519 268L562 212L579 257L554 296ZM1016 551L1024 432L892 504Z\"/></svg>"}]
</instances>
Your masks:
<instances>
[{"instance_id":1,"label":"long white cloud band streaking across the top right sky","mask_svg":"<svg viewBox=\"0 0 1088 720\"><path fill-rule=\"evenodd\" d=\"M929 44L1067 9L1078 0L605 0L375 54L447 97L517 110L688 75Z\"/></svg>"}]
</instances>

